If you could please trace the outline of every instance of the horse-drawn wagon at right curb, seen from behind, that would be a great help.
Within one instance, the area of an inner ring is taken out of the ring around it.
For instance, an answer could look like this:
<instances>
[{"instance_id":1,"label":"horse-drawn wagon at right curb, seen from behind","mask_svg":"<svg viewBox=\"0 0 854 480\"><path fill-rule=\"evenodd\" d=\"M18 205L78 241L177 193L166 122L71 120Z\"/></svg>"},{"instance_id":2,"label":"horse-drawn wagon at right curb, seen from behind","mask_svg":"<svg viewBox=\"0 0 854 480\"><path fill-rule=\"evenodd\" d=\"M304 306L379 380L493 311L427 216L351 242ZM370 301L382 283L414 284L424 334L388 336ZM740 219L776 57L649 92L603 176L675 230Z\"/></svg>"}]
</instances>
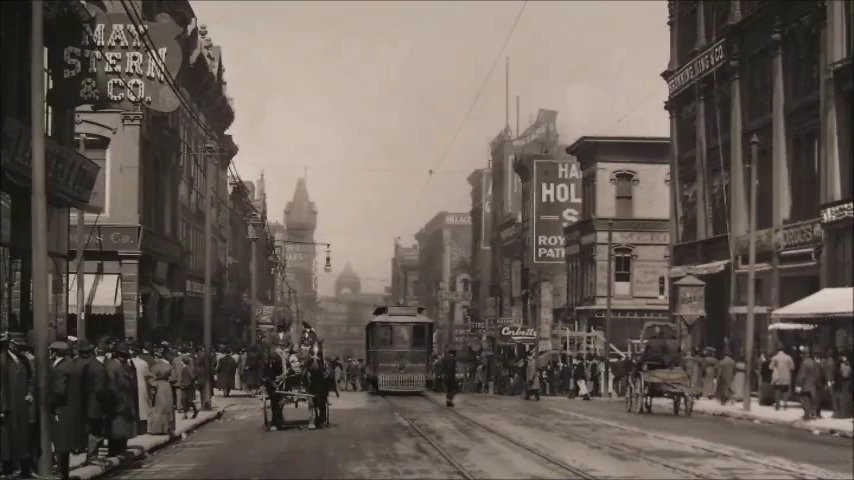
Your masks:
<instances>
[{"instance_id":1,"label":"horse-drawn wagon at right curb, seen from behind","mask_svg":"<svg viewBox=\"0 0 854 480\"><path fill-rule=\"evenodd\" d=\"M685 415L694 408L691 378L682 367L682 352L676 326L667 322L647 322L641 331L643 353L629 374L626 410L652 413L653 398L673 400L673 414Z\"/></svg>"}]
</instances>

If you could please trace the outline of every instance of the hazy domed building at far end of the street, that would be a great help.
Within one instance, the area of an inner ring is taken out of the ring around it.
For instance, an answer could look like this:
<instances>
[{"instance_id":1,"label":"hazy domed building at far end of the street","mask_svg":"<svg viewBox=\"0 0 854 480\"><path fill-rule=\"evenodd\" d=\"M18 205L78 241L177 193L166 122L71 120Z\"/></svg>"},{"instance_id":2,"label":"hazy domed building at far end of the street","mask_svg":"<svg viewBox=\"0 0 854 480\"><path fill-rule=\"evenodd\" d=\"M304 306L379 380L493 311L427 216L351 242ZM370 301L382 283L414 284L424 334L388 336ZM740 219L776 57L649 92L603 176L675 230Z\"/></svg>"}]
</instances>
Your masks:
<instances>
[{"instance_id":1,"label":"hazy domed building at far end of the street","mask_svg":"<svg viewBox=\"0 0 854 480\"><path fill-rule=\"evenodd\" d=\"M362 293L350 262L335 279L335 295L320 298L316 329L329 355L359 358L365 351L365 323L383 303L383 293Z\"/></svg>"}]
</instances>

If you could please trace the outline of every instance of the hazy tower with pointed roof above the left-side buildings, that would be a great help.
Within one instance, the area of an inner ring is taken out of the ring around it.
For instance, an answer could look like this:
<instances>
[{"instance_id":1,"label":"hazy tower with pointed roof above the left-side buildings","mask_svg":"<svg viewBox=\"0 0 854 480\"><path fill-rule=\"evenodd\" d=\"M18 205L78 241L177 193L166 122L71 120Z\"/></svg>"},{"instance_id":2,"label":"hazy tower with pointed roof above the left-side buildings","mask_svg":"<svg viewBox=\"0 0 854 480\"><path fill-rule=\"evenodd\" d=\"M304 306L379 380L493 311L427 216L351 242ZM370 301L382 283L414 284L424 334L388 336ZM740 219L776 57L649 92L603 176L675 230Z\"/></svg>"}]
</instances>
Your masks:
<instances>
[{"instance_id":1,"label":"hazy tower with pointed roof above the left-side buildings","mask_svg":"<svg viewBox=\"0 0 854 480\"><path fill-rule=\"evenodd\" d=\"M260 189L263 191L263 183ZM315 289L315 273L317 247L311 245L314 231L317 228L317 207L308 196L306 179L297 180L294 196L284 212L285 235L284 250L287 262L288 280L296 290L297 302L303 313L303 320L312 322L313 312L316 311L317 291ZM320 265L320 268L323 266Z\"/></svg>"}]
</instances>

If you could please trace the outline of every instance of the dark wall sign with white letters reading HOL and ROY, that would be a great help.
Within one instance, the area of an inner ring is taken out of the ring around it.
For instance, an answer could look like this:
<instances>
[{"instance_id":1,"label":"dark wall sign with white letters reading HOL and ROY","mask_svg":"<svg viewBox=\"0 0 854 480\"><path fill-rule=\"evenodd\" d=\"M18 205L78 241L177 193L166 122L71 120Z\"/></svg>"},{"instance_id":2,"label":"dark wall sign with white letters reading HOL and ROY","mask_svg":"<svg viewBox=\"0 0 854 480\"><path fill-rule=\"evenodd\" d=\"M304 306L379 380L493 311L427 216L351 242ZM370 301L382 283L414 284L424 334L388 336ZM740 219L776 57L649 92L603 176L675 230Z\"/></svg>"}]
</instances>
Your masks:
<instances>
[{"instance_id":1,"label":"dark wall sign with white letters reading HOL and ROY","mask_svg":"<svg viewBox=\"0 0 854 480\"><path fill-rule=\"evenodd\" d=\"M581 169L570 160L534 160L534 263L563 263L563 227L581 215Z\"/></svg>"}]
</instances>

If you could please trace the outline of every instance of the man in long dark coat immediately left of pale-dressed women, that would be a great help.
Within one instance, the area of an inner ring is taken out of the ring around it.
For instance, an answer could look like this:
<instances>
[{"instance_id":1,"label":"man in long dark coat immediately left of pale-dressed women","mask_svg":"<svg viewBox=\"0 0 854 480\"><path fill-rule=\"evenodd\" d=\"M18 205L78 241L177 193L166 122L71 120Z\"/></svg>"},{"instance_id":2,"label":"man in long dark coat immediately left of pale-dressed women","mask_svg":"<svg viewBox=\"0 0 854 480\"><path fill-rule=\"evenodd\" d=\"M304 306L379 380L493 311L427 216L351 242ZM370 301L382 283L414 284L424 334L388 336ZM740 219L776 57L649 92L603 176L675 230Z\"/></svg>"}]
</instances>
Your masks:
<instances>
[{"instance_id":1,"label":"man in long dark coat immediately left of pale-dressed women","mask_svg":"<svg viewBox=\"0 0 854 480\"><path fill-rule=\"evenodd\" d=\"M107 371L107 386L113 397L108 411L107 455L118 457L127 451L127 442L134 437L139 412L136 410L137 396L136 367L130 360L130 351L125 343L113 347L112 357L104 362Z\"/></svg>"}]
</instances>

